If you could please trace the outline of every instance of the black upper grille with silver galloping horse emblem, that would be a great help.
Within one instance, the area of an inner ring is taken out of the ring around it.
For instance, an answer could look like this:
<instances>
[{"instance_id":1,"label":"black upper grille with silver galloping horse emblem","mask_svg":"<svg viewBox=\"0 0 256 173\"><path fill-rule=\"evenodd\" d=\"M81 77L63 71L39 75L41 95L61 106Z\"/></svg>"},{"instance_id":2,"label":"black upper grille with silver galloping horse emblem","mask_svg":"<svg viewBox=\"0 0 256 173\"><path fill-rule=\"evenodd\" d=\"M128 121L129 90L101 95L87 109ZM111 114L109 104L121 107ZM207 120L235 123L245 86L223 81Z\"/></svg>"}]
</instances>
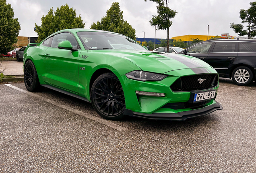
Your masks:
<instances>
[{"instance_id":1,"label":"black upper grille with silver galloping horse emblem","mask_svg":"<svg viewBox=\"0 0 256 173\"><path fill-rule=\"evenodd\" d=\"M205 80L200 84L199 79ZM217 86L218 81L219 78L217 74L197 74L182 76L171 85L171 90L174 92L186 92L211 89Z\"/></svg>"}]
</instances>

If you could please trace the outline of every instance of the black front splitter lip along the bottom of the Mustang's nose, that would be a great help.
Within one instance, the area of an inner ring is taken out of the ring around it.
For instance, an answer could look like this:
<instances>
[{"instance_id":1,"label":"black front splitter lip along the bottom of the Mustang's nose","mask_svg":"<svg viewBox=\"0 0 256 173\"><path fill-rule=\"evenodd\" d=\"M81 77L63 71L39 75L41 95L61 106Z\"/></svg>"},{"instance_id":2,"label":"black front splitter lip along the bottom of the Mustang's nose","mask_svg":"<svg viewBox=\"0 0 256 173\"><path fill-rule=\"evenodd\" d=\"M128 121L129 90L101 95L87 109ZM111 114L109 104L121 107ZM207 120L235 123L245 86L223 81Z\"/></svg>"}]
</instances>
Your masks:
<instances>
[{"instance_id":1,"label":"black front splitter lip along the bottom of the Mustang's nose","mask_svg":"<svg viewBox=\"0 0 256 173\"><path fill-rule=\"evenodd\" d=\"M129 115L132 117L140 117L145 119L153 119L153 120L178 120L178 121L184 121L188 118L193 117L199 117L202 115L207 115L209 113L212 113L217 110L223 109L220 103L215 101L215 104L211 104L207 107L201 108L201 109L195 109L191 111L183 111L178 113L152 113L152 114L146 114L146 113L138 113L133 112L130 109L124 110L124 115Z\"/></svg>"}]
</instances>

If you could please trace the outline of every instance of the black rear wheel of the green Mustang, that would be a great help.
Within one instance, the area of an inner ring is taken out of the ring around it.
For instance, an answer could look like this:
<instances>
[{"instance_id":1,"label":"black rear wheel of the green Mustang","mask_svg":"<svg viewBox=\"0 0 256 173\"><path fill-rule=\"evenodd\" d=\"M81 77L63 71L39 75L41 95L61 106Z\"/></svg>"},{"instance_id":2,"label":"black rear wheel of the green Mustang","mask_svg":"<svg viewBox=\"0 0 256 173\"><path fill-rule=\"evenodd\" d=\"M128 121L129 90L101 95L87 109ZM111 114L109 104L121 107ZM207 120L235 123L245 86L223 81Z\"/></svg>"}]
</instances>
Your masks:
<instances>
[{"instance_id":1,"label":"black rear wheel of the green Mustang","mask_svg":"<svg viewBox=\"0 0 256 173\"><path fill-rule=\"evenodd\" d=\"M31 60L28 60L24 66L24 83L28 91L37 91L40 86L40 82L37 76L37 70Z\"/></svg>"}]
</instances>

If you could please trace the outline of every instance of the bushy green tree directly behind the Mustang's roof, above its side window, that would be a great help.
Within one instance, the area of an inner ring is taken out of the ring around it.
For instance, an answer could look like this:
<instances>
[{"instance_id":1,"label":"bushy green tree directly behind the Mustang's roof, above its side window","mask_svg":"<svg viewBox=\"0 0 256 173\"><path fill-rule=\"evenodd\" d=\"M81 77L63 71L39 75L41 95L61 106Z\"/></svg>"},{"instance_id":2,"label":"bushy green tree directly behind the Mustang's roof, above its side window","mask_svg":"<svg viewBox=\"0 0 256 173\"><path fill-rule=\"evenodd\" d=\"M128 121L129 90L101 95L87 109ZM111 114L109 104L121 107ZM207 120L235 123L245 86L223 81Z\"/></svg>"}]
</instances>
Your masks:
<instances>
[{"instance_id":1,"label":"bushy green tree directly behind the Mustang's roof, above its side window","mask_svg":"<svg viewBox=\"0 0 256 173\"><path fill-rule=\"evenodd\" d=\"M56 12L51 8L48 14L43 16L41 20L41 26L35 24L35 32L38 35L37 42L41 42L47 36L59 30L85 27L80 14L76 17L76 10L69 8L68 4L57 8Z\"/></svg>"}]
</instances>

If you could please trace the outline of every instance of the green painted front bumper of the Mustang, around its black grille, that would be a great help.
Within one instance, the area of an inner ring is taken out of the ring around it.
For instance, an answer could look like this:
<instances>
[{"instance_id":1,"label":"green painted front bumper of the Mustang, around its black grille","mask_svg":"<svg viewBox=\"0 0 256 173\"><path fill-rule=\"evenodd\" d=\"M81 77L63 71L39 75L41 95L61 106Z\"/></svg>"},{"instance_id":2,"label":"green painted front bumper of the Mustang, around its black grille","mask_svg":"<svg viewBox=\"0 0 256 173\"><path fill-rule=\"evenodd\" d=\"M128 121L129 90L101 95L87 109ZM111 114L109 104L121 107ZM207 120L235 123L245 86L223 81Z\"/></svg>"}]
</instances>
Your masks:
<instances>
[{"instance_id":1,"label":"green painted front bumper of the Mustang, around its black grille","mask_svg":"<svg viewBox=\"0 0 256 173\"><path fill-rule=\"evenodd\" d=\"M214 69L213 69L214 70ZM191 109L163 109L163 106L169 103L181 103L190 101L191 92L173 92L170 88L171 84L179 77L186 75L193 75L193 71L189 69L174 70L166 73L168 76L161 81L138 81L120 76L120 82L124 90L126 109L132 110L136 113L178 113L183 111L190 111ZM216 72L217 73L217 72ZM194 73L195 74L195 73ZM200 90L203 91L218 91L218 86L211 89ZM153 97L146 95L138 95L136 91L145 91L153 93L164 93L165 97ZM215 102L208 103L207 106ZM188 108L188 107L187 107Z\"/></svg>"}]
</instances>

